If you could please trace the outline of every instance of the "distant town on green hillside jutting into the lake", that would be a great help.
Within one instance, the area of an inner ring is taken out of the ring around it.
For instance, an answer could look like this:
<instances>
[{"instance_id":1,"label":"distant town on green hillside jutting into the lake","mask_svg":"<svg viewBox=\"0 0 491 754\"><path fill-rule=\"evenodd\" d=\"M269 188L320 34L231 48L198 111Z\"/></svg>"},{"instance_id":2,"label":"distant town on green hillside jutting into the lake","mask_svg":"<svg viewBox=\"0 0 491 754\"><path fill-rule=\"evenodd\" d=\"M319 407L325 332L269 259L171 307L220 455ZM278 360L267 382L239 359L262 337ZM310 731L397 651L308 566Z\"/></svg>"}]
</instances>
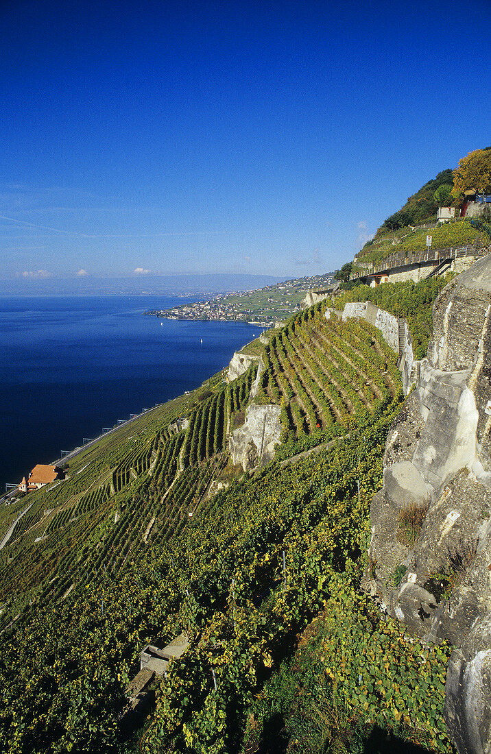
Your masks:
<instances>
[{"instance_id":1,"label":"distant town on green hillside jutting into the lake","mask_svg":"<svg viewBox=\"0 0 491 754\"><path fill-rule=\"evenodd\" d=\"M170 320L225 320L272 326L302 308L307 290L323 287L332 281L333 273L297 277L259 290L222 293L205 301L147 311L146 314Z\"/></svg>"}]
</instances>

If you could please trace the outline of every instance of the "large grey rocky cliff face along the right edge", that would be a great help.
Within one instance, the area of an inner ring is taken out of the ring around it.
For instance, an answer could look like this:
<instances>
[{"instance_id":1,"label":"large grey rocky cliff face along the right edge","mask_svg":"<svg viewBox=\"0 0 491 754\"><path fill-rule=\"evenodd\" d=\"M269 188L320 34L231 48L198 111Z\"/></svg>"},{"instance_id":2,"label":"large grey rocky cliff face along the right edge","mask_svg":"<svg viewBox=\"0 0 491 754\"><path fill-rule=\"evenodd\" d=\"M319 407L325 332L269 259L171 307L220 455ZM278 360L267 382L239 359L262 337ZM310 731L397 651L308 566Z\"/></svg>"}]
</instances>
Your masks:
<instances>
[{"instance_id":1,"label":"large grey rocky cliff face along the right edge","mask_svg":"<svg viewBox=\"0 0 491 754\"><path fill-rule=\"evenodd\" d=\"M426 641L456 647L445 715L491 752L491 257L447 286L416 391L388 434L364 586Z\"/></svg>"}]
</instances>

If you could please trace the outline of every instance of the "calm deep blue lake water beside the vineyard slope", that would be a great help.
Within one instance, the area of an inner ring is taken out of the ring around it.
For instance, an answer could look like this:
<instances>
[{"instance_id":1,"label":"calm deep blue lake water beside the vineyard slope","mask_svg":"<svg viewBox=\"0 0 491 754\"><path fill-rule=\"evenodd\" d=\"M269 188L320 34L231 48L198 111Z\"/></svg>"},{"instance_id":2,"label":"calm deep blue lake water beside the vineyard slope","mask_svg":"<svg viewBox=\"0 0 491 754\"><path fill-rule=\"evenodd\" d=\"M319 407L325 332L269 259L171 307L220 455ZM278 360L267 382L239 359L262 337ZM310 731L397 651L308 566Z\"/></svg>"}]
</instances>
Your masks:
<instances>
[{"instance_id":1,"label":"calm deep blue lake water beside the vineyard slope","mask_svg":"<svg viewBox=\"0 0 491 754\"><path fill-rule=\"evenodd\" d=\"M0 298L0 493L118 418L201 385L259 335L244 323L143 316L180 302Z\"/></svg>"}]
</instances>

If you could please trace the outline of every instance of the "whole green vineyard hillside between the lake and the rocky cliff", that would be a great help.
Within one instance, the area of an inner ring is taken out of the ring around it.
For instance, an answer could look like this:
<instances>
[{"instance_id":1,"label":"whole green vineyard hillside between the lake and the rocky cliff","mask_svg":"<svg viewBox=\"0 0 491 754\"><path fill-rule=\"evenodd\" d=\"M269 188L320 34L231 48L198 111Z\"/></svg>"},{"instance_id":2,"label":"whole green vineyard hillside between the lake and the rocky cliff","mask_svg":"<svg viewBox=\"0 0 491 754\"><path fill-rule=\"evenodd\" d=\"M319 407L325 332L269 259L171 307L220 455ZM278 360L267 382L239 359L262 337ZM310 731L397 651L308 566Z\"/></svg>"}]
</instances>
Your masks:
<instances>
[{"instance_id":1,"label":"whole green vineyard hillside between the lake and the rocky cliff","mask_svg":"<svg viewBox=\"0 0 491 754\"><path fill-rule=\"evenodd\" d=\"M430 670L421 667L423 648L359 596L370 500L402 401L395 356L364 321L327 320L317 305L271 334L259 368L257 380L256 366L229 385L215 375L152 409L117 441L83 449L63 483L29 495L0 551L1 751L259 752L263 690L319 611L330 627L330 703L363 730L402 719L418 743L450 751L433 711L440 686L419 694L413 682L444 672L447 647L425 648ZM293 455L302 438L317 455L252 475L232 467L229 436L255 380L252 400L281 405L278 455ZM351 630L357 621L370 630ZM189 648L155 683L149 720L132 738L121 711L140 651L182 631ZM398 673L400 683L382 693L376 663L361 676L363 649L385 652L384 677Z\"/></svg>"}]
</instances>

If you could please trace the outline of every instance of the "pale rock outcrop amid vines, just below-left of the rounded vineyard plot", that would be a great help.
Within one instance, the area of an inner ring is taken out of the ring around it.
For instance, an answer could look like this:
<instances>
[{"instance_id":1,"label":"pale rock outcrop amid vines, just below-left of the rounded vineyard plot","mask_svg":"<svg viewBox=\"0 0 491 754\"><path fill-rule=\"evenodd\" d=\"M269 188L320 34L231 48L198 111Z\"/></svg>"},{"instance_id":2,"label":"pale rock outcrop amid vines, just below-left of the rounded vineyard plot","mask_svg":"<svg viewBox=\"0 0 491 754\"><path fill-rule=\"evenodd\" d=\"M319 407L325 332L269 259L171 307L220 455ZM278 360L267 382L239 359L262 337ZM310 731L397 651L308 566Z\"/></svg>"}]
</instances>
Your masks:
<instances>
[{"instance_id":1,"label":"pale rock outcrop amid vines, just below-left of the rounded vineyard plot","mask_svg":"<svg viewBox=\"0 0 491 754\"><path fill-rule=\"evenodd\" d=\"M234 464L241 464L247 471L274 458L281 436L280 414L280 406L256 406L254 403L247 406L244 425L230 438L230 455Z\"/></svg>"}]
</instances>

